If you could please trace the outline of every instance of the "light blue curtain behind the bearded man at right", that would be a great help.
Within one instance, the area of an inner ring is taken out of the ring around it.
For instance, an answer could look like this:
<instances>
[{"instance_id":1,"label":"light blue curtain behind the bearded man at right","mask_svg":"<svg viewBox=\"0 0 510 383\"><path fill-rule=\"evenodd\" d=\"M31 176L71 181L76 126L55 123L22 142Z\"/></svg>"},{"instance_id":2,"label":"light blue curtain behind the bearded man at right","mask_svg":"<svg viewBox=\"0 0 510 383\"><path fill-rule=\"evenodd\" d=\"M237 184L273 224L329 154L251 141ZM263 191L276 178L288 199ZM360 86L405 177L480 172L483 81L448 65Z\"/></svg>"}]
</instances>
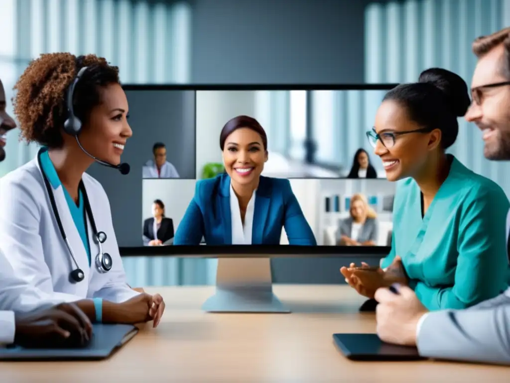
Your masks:
<instances>
[{"instance_id":1,"label":"light blue curtain behind the bearded man at right","mask_svg":"<svg viewBox=\"0 0 510 383\"><path fill-rule=\"evenodd\" d=\"M372 4L365 13L365 81L413 82L429 67L443 67L468 84L476 64L471 43L510 25L510 0L411 0ZM451 153L510 195L508 164L483 157L481 133L459 119Z\"/></svg>"}]
</instances>

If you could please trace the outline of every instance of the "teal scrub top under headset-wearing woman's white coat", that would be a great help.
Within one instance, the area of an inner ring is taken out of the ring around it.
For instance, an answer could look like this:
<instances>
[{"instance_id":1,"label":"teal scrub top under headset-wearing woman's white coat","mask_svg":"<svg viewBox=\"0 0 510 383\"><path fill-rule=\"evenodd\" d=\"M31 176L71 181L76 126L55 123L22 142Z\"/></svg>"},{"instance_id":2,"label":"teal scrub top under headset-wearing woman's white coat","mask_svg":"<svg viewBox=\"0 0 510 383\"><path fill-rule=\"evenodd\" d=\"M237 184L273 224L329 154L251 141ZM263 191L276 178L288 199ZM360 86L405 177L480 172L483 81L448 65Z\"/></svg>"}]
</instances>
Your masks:
<instances>
[{"instance_id":1,"label":"teal scrub top under headset-wearing woman's white coat","mask_svg":"<svg viewBox=\"0 0 510 383\"><path fill-rule=\"evenodd\" d=\"M57 174L57 171L55 170L55 166L53 165L52 160L49 158L48 151L44 150L41 153L41 166L42 171L46 175L46 178L48 179L50 185L54 189L57 189L59 186L62 185L62 182L60 182L59 176ZM74 221L74 225L76 226L78 232L80 233L80 237L82 238L83 246L85 247L85 252L87 253L87 257L89 259L89 267L90 267L90 246L89 246L89 238L87 236L87 229L86 229L86 220L85 220L85 208L84 208L84 202L83 202L83 194L82 190L79 192L78 197L78 205L74 202L74 200L71 198L69 193L67 192L66 188L64 189L64 195L65 199L67 201L67 206L69 206L69 211L71 212L72 220ZM64 228L65 230L65 228Z\"/></svg>"}]
</instances>

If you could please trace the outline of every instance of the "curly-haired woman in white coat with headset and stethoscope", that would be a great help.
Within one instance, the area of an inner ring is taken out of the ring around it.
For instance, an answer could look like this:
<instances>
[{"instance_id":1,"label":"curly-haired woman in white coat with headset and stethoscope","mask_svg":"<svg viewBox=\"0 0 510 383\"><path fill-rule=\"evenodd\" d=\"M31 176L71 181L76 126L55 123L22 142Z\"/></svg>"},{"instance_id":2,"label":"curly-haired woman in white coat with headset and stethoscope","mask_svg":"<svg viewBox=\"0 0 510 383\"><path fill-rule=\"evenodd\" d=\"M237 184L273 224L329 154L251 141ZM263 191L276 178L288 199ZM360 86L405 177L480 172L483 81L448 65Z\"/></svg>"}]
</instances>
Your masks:
<instances>
[{"instance_id":1,"label":"curly-haired woman in white coat with headset and stethoscope","mask_svg":"<svg viewBox=\"0 0 510 383\"><path fill-rule=\"evenodd\" d=\"M21 135L42 148L0 180L0 249L17 276L54 298L130 300L140 293L126 283L108 197L85 173L94 161L129 173L118 164L132 131L117 67L94 55L45 54L15 89ZM140 300L140 309L154 307L157 325L162 297L148 307Z\"/></svg>"}]
</instances>

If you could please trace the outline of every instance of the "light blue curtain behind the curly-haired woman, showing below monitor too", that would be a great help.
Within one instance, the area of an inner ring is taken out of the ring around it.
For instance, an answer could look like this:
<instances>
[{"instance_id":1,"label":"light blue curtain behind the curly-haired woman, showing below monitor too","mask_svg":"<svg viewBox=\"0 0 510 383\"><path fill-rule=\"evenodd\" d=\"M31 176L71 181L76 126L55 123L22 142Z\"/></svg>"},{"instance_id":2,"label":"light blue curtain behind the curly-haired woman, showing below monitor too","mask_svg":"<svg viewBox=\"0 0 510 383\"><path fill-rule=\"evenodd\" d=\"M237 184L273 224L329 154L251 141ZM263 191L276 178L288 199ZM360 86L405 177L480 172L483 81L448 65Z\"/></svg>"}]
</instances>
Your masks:
<instances>
[{"instance_id":1,"label":"light blue curtain behind the curly-haired woman, showing below monitor too","mask_svg":"<svg viewBox=\"0 0 510 383\"><path fill-rule=\"evenodd\" d=\"M12 87L41 53L93 53L120 68L123 83L187 83L191 8L185 1L2 0L0 79L12 114ZM37 147L8 134L0 177L34 158ZM124 258L132 285L203 283L212 261ZM161 269L165 273L159 273ZM211 272L209 272L211 273ZM214 279L213 279L214 280Z\"/></svg>"}]
</instances>

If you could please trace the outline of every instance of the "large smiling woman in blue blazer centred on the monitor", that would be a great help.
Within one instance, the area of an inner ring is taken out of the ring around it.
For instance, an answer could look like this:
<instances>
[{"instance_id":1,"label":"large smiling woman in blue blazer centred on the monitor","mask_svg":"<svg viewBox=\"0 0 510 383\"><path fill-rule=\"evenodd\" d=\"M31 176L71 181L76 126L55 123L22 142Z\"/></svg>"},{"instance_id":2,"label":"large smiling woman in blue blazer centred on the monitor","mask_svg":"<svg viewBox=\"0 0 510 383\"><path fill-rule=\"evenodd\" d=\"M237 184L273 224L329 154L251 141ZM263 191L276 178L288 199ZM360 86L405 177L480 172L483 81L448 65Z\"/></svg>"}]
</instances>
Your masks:
<instances>
[{"instance_id":1,"label":"large smiling woman in blue blazer centred on the monitor","mask_svg":"<svg viewBox=\"0 0 510 383\"><path fill-rule=\"evenodd\" d=\"M237 116L220 134L225 173L196 183L174 245L317 245L289 180L261 176L267 136L256 119Z\"/></svg>"}]
</instances>

